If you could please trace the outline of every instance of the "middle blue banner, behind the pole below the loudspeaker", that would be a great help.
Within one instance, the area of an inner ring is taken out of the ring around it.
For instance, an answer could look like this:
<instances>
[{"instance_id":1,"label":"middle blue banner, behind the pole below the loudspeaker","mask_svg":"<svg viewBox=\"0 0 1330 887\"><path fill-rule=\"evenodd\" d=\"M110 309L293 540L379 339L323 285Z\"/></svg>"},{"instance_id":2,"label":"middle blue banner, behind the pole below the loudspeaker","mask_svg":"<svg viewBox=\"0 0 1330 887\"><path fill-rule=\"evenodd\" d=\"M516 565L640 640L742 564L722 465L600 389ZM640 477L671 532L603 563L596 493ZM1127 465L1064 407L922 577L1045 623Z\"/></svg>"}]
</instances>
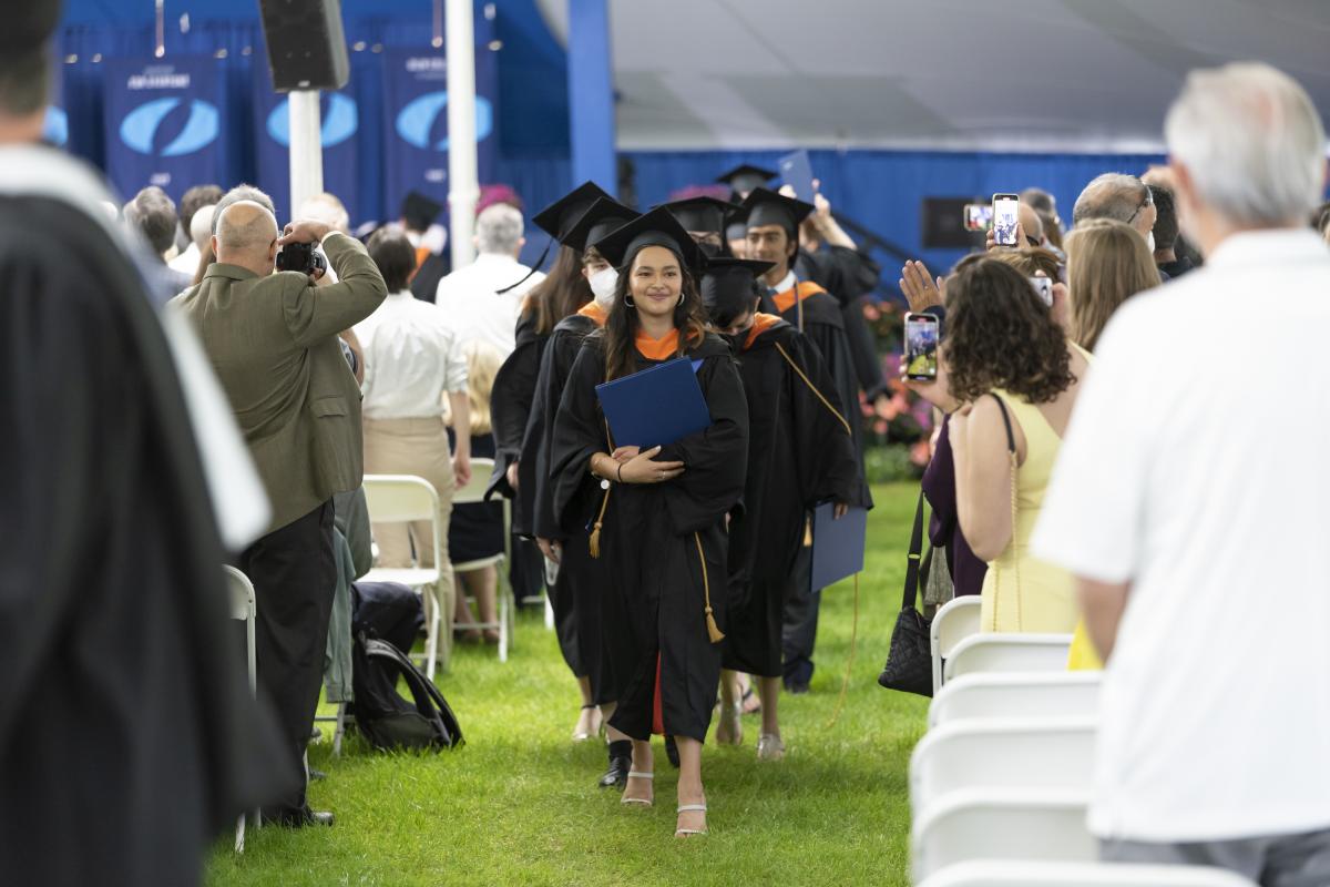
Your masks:
<instances>
[{"instance_id":1,"label":"middle blue banner, behind the pole below the loudspeaker","mask_svg":"<svg viewBox=\"0 0 1330 887\"><path fill-rule=\"evenodd\" d=\"M285 93L273 92L267 66L259 72L254 101L254 132L258 144L258 185L277 205L283 223L291 218L291 112ZM362 218L359 194L360 108L350 86L343 92L319 93L319 120L323 140L323 190L335 194L351 215Z\"/></svg>"}]
</instances>

